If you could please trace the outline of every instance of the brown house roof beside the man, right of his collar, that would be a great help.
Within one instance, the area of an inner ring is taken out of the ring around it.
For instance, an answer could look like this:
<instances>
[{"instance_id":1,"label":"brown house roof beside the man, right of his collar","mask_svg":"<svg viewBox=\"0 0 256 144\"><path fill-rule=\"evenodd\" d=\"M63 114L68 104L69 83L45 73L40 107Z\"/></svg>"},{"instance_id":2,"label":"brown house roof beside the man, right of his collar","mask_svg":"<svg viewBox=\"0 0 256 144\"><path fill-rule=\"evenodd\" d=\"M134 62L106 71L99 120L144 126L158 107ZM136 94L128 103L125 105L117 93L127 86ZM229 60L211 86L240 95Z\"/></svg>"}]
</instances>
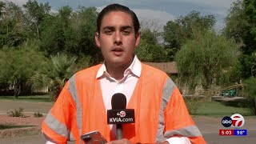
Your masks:
<instances>
[{"instance_id":1,"label":"brown house roof beside the man, right of his collar","mask_svg":"<svg viewBox=\"0 0 256 144\"><path fill-rule=\"evenodd\" d=\"M167 74L178 74L176 62L143 62L146 65L153 66Z\"/></svg>"}]
</instances>

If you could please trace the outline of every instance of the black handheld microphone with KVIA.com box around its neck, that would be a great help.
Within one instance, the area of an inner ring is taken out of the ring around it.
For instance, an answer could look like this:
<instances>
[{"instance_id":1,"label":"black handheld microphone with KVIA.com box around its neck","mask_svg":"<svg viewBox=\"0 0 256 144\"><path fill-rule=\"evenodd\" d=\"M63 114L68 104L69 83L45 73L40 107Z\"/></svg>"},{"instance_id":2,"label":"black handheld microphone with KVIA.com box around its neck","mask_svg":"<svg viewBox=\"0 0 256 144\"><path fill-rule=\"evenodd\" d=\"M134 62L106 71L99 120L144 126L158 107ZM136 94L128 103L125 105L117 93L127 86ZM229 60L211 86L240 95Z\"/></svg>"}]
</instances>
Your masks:
<instances>
[{"instance_id":1,"label":"black handheld microphone with KVIA.com box around its neck","mask_svg":"<svg viewBox=\"0 0 256 144\"><path fill-rule=\"evenodd\" d=\"M107 110L107 123L116 124L117 139L122 139L122 124L134 123L134 109L126 109L126 96L114 94L111 99L112 110Z\"/></svg>"}]
</instances>

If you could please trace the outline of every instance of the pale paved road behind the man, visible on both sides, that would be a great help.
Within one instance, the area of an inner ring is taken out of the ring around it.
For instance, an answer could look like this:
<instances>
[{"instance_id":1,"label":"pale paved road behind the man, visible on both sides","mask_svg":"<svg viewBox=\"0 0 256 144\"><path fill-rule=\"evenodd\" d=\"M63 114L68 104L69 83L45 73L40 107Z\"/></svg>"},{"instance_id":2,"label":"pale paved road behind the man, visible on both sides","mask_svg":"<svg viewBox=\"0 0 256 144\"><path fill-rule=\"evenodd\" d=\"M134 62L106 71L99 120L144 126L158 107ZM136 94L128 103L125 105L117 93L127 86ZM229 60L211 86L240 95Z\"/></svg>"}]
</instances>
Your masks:
<instances>
[{"instance_id":1,"label":"pale paved road behind the man, visible on both sides","mask_svg":"<svg viewBox=\"0 0 256 144\"><path fill-rule=\"evenodd\" d=\"M15 102L0 100L0 113L6 114L6 110L14 110L19 107L24 108L25 111L47 113L50 110L52 103L50 102ZM222 126L222 118L208 118L208 117L194 117L194 122L201 130L203 137L209 144L254 144L256 143L256 118L245 117L245 125L242 129L247 130L247 136L219 136L218 130L226 129ZM46 143L42 134L23 136L17 138L2 138L0 144L40 144ZM74 142L69 142L74 143Z\"/></svg>"}]
</instances>

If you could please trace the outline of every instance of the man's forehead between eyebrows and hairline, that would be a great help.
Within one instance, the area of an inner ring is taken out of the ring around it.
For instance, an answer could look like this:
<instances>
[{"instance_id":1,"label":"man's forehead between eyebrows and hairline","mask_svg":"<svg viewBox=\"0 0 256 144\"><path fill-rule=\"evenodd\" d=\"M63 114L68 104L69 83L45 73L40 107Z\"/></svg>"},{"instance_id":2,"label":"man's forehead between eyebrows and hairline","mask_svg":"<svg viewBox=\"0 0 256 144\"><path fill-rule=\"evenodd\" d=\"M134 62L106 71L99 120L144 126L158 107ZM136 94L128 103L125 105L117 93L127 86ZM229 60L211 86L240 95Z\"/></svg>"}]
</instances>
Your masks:
<instances>
[{"instance_id":1,"label":"man's forehead between eyebrows and hairline","mask_svg":"<svg viewBox=\"0 0 256 144\"><path fill-rule=\"evenodd\" d=\"M122 11L112 11L102 18L101 29L106 26L131 26L134 27L130 14Z\"/></svg>"}]
</instances>

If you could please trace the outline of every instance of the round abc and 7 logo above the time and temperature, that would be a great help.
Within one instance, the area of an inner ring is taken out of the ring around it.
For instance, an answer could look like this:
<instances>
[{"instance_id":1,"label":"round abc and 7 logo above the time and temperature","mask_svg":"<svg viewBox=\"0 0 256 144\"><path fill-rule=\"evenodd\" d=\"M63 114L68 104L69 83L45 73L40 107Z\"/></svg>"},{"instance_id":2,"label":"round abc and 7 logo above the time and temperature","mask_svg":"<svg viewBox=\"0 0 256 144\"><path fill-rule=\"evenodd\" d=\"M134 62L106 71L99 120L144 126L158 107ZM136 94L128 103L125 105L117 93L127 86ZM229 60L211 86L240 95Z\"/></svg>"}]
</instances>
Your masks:
<instances>
[{"instance_id":1,"label":"round abc and 7 logo above the time and temperature","mask_svg":"<svg viewBox=\"0 0 256 144\"><path fill-rule=\"evenodd\" d=\"M225 127L240 128L245 124L245 118L241 114L233 114L231 117L222 118L222 125Z\"/></svg>"}]
</instances>

